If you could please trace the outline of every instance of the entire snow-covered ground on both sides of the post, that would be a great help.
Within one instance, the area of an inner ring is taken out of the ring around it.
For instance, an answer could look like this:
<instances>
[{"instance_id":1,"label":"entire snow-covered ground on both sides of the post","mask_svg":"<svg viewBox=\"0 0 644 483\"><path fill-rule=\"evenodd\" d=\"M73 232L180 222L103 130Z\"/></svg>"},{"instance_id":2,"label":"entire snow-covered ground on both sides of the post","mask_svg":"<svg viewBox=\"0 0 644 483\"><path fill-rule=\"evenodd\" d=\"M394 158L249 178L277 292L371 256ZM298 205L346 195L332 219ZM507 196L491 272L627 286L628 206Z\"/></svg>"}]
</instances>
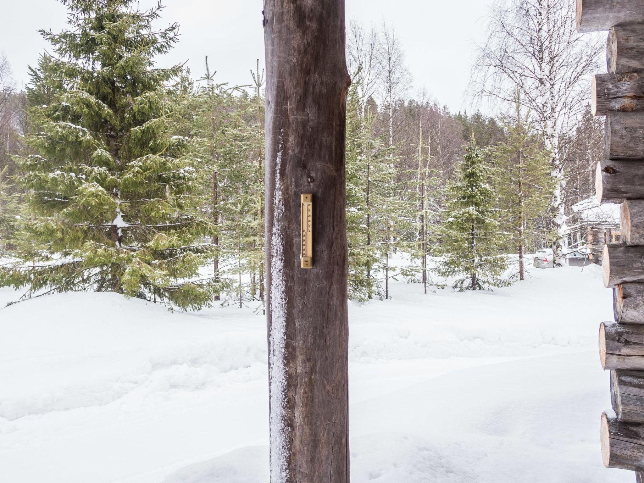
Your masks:
<instances>
[{"instance_id":1,"label":"entire snow-covered ground on both sides of the post","mask_svg":"<svg viewBox=\"0 0 644 483\"><path fill-rule=\"evenodd\" d=\"M392 293L350 305L354 483L633 480L601 464L598 267ZM1 308L0 482L267 483L266 359L252 309L94 293Z\"/></svg>"}]
</instances>

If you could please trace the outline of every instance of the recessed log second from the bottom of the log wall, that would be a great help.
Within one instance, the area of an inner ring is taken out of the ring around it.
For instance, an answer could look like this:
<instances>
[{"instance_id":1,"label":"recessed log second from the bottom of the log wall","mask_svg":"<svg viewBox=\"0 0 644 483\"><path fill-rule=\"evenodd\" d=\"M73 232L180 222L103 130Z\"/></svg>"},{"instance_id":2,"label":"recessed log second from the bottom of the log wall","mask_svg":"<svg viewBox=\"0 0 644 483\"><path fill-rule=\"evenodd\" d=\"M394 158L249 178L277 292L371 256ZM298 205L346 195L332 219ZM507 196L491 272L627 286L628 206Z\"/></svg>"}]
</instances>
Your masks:
<instances>
[{"instance_id":1,"label":"recessed log second from the bottom of the log wall","mask_svg":"<svg viewBox=\"0 0 644 483\"><path fill-rule=\"evenodd\" d=\"M620 421L644 422L644 372L611 370L611 404Z\"/></svg>"}]
</instances>

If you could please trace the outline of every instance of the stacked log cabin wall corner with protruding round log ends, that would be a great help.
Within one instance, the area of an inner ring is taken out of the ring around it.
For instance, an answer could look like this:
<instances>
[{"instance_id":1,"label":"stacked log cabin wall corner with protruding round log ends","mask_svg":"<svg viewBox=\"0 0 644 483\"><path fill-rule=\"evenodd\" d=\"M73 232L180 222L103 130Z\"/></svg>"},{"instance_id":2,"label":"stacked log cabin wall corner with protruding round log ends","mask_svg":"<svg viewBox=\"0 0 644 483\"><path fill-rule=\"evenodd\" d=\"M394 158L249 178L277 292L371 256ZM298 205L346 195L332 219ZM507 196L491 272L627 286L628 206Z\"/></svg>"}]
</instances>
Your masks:
<instances>
[{"instance_id":1,"label":"stacked log cabin wall corner with protruding round log ends","mask_svg":"<svg viewBox=\"0 0 644 483\"><path fill-rule=\"evenodd\" d=\"M612 408L601 415L601 455L644 483L644 0L576 0L579 32L608 31L608 73L594 76L592 111L606 117L600 203L621 203L621 243L603 247L603 282L615 321L600 325Z\"/></svg>"}]
</instances>

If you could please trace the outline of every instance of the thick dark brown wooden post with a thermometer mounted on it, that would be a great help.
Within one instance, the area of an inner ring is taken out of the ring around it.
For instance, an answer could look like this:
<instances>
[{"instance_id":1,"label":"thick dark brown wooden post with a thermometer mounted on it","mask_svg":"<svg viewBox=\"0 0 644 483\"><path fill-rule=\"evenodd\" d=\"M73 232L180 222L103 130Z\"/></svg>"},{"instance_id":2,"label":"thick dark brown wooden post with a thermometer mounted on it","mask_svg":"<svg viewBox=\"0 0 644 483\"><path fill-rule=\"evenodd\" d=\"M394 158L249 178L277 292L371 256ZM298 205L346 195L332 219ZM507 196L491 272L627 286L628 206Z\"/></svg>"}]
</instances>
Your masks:
<instances>
[{"instance_id":1,"label":"thick dark brown wooden post with a thermometer mounted on it","mask_svg":"<svg viewBox=\"0 0 644 483\"><path fill-rule=\"evenodd\" d=\"M263 15L270 482L345 483L345 2L264 0Z\"/></svg>"}]
</instances>

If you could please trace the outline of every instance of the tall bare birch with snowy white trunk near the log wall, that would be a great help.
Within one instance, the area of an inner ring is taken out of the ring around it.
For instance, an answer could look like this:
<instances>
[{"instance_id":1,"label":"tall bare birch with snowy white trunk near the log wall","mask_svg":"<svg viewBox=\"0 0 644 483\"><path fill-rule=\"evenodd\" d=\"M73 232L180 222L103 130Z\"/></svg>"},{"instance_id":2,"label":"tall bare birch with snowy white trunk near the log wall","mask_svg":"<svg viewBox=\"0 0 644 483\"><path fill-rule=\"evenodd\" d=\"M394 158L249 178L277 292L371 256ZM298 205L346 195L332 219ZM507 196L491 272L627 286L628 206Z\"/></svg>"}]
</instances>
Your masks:
<instances>
[{"instance_id":1,"label":"tall bare birch with snowy white trunk near the log wall","mask_svg":"<svg viewBox=\"0 0 644 483\"><path fill-rule=\"evenodd\" d=\"M511 103L519 88L550 151L556 180L551 201L554 263L565 263L565 143L583 113L589 74L596 71L601 41L579 35L569 0L506 0L492 9L488 39L478 46L473 92Z\"/></svg>"}]
</instances>

